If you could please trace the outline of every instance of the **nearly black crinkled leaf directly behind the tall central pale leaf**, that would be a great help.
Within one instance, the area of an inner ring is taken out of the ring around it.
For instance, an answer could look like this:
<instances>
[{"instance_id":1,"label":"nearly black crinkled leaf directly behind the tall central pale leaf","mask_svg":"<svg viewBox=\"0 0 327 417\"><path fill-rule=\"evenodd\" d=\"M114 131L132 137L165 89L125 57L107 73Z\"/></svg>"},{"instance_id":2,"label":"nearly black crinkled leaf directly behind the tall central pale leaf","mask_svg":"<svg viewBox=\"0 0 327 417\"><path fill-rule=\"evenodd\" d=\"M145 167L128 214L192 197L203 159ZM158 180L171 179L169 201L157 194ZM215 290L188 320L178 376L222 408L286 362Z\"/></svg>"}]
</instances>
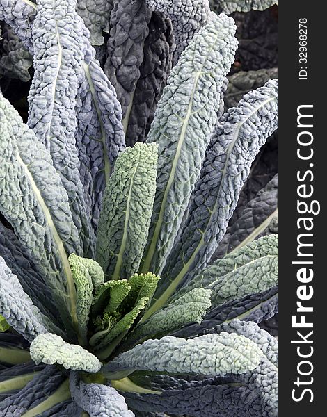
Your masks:
<instances>
[{"instance_id":1,"label":"nearly black crinkled leaf directly behind the tall central pale leaf","mask_svg":"<svg viewBox=\"0 0 327 417\"><path fill-rule=\"evenodd\" d=\"M144 42L143 62L129 114L126 143L144 142L150 130L163 87L166 85L175 50L170 19L154 11L148 24L149 35Z\"/></svg>"}]
</instances>

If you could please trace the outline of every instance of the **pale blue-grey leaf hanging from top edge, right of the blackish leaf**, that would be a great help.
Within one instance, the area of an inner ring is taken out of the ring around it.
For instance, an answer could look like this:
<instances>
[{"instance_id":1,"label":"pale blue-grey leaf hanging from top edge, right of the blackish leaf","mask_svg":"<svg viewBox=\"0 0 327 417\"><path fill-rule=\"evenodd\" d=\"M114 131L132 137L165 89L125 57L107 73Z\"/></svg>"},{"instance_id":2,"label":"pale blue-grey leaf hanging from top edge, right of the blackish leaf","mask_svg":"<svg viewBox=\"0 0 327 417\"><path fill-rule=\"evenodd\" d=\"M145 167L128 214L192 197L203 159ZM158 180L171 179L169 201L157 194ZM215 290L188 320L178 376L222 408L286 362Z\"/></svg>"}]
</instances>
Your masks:
<instances>
[{"instance_id":1,"label":"pale blue-grey leaf hanging from top edge, right of the blackish leaf","mask_svg":"<svg viewBox=\"0 0 327 417\"><path fill-rule=\"evenodd\" d=\"M208 0L145 0L151 10L162 12L173 24L176 43L174 64L195 33L212 19Z\"/></svg>"}]
</instances>

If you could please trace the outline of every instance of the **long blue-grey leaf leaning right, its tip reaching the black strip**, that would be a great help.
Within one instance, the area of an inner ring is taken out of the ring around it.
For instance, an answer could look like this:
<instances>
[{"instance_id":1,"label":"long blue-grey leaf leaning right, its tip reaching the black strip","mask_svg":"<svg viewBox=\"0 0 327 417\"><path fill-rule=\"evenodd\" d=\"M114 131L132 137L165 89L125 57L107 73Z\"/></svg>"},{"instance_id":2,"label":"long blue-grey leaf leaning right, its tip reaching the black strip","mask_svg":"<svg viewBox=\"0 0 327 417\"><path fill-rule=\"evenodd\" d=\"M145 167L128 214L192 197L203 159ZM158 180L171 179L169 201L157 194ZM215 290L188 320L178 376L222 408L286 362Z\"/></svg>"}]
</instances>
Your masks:
<instances>
[{"instance_id":1,"label":"long blue-grey leaf leaning right, its tip reaching the black strip","mask_svg":"<svg viewBox=\"0 0 327 417\"><path fill-rule=\"evenodd\" d=\"M189 216L163 271L161 281L170 285L160 302L211 259L225 234L250 165L277 126L278 80L249 92L237 107L223 115L207 149Z\"/></svg>"}]
</instances>

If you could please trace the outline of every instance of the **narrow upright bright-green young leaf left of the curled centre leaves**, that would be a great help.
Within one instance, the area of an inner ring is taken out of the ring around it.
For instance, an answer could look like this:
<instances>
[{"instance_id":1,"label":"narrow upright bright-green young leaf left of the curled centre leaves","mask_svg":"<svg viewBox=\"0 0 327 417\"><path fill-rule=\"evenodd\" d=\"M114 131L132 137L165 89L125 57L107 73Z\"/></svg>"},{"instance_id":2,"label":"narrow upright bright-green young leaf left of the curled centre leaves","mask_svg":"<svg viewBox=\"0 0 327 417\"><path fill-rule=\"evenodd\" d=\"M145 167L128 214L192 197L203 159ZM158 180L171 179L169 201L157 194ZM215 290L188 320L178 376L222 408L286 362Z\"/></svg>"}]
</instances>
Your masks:
<instances>
[{"instance_id":1,"label":"narrow upright bright-green young leaf left of the curled centre leaves","mask_svg":"<svg viewBox=\"0 0 327 417\"><path fill-rule=\"evenodd\" d=\"M76 314L79 323L79 334L81 335L83 344L87 343L88 336L88 316L90 314L90 306L93 299L93 282L88 273L88 269L80 261L80 257L75 254L70 254L68 261L70 263L70 270L72 271L72 278L74 279L77 300L76 300Z\"/></svg>"}]
</instances>

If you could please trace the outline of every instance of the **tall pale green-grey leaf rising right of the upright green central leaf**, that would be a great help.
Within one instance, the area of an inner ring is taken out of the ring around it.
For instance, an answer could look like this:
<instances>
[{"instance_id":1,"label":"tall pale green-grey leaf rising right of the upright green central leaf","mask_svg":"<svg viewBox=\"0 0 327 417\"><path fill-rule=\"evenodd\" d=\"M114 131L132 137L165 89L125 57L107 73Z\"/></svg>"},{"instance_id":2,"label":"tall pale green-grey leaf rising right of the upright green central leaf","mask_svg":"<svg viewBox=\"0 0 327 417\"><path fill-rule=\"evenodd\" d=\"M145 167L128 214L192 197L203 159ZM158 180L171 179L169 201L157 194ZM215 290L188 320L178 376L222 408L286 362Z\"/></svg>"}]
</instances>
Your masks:
<instances>
[{"instance_id":1,"label":"tall pale green-grey leaf rising right of the upright green central leaf","mask_svg":"<svg viewBox=\"0 0 327 417\"><path fill-rule=\"evenodd\" d=\"M237 47L233 22L221 15L202 28L170 73L159 101L147 138L159 145L159 160L143 272L160 275L200 174Z\"/></svg>"}]
</instances>

